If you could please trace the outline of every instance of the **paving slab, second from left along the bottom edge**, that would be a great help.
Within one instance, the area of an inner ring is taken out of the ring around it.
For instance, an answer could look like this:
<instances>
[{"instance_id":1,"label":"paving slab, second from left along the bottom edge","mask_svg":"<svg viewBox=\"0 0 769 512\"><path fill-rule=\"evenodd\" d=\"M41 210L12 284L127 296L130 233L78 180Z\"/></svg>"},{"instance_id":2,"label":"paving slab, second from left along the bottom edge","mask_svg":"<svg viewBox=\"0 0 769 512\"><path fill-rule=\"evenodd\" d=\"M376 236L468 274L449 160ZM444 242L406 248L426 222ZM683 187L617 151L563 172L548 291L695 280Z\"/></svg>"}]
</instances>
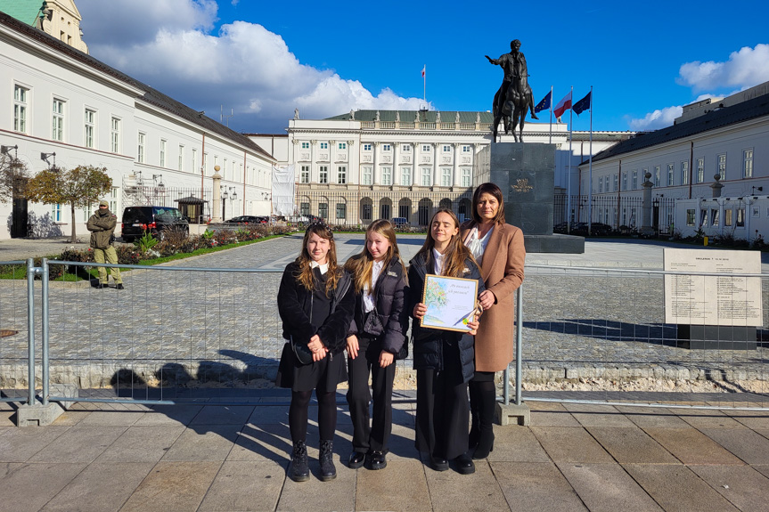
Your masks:
<instances>
[{"instance_id":1,"label":"paving slab, second from left along the bottom edge","mask_svg":"<svg viewBox=\"0 0 769 512\"><path fill-rule=\"evenodd\" d=\"M42 512L103 512L119 510L142 483L153 463L94 462L50 500Z\"/></svg>"}]
</instances>

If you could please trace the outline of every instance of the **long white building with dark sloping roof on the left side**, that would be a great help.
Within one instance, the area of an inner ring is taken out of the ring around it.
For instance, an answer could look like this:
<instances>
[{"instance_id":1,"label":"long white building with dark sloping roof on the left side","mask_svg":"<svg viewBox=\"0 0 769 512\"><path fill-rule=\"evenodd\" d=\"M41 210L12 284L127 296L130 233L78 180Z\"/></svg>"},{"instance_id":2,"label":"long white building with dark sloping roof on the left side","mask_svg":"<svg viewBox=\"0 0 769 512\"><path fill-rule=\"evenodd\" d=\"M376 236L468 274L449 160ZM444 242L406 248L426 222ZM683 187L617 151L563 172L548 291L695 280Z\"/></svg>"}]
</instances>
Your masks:
<instances>
[{"instance_id":1,"label":"long white building with dark sloping roof on the left side","mask_svg":"<svg viewBox=\"0 0 769 512\"><path fill-rule=\"evenodd\" d=\"M31 175L54 162L106 167L112 191L104 199L119 217L127 206L178 206L192 221L212 214L218 166L230 200L217 214L268 215L277 161L248 137L91 57L79 21L71 0L0 0L0 164L18 158ZM93 209L76 211L81 238ZM0 219L0 240L70 233L67 205L13 198L0 202Z\"/></svg>"}]
</instances>

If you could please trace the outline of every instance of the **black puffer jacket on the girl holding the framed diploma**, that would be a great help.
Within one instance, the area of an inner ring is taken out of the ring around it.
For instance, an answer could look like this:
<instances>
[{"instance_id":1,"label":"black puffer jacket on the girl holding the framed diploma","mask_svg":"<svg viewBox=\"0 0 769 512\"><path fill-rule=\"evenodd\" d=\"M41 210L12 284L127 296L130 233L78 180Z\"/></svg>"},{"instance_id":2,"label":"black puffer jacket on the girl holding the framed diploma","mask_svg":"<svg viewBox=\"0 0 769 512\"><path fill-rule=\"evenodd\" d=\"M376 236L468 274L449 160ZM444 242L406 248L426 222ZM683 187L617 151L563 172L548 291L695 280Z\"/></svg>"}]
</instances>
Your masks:
<instances>
[{"instance_id":1,"label":"black puffer jacket on the girl holding the framed diploma","mask_svg":"<svg viewBox=\"0 0 769 512\"><path fill-rule=\"evenodd\" d=\"M424 280L427 273L434 273L432 269L427 272L424 255L414 256L408 268L409 301L408 313L413 316L413 307L421 302ZM464 262L467 272L462 278L478 280L478 294L486 289L483 279L480 277L478 265L472 261ZM475 372L473 345L474 339L469 334L462 334L451 330L427 329L420 326L420 321L412 322L413 337L413 367L415 370L433 369L443 370L444 340L459 343L459 357L462 362L462 382L467 382Z\"/></svg>"}]
</instances>

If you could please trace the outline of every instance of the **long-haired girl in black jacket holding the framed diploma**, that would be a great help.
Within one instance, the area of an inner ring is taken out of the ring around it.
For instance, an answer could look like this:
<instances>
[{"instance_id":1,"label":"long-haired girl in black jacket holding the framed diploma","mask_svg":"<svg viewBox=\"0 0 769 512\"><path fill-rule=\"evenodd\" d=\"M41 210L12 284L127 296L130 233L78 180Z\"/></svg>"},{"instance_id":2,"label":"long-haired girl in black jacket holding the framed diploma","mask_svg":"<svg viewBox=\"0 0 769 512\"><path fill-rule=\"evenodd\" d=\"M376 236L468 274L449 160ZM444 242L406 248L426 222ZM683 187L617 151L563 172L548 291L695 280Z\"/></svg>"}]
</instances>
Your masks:
<instances>
[{"instance_id":1,"label":"long-haired girl in black jacket holding the framed diploma","mask_svg":"<svg viewBox=\"0 0 769 512\"><path fill-rule=\"evenodd\" d=\"M430 467L436 471L446 471L449 460L454 460L456 470L469 475L475 466L467 454L467 383L473 376L473 336L479 323L477 317L470 321L466 334L421 327L421 318L428 311L421 302L427 274L478 280L478 293L485 289L478 264L459 237L459 219L446 208L432 216L424 246L408 270L409 312L414 318L416 448L429 453Z\"/></svg>"}]
</instances>

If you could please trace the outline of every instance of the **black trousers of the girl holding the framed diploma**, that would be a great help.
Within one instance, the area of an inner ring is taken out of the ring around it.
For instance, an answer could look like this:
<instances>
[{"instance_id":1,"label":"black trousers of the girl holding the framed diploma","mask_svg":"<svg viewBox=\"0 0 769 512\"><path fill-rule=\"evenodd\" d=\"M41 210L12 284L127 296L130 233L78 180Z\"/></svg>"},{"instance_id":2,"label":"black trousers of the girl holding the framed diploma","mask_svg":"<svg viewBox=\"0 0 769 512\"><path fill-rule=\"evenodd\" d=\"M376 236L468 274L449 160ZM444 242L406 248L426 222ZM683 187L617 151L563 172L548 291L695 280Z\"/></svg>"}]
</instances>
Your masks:
<instances>
[{"instance_id":1,"label":"black trousers of the girl holding the framed diploma","mask_svg":"<svg viewBox=\"0 0 769 512\"><path fill-rule=\"evenodd\" d=\"M416 370L416 448L454 459L468 451L470 402L458 348L446 348L444 370Z\"/></svg>"}]
</instances>

